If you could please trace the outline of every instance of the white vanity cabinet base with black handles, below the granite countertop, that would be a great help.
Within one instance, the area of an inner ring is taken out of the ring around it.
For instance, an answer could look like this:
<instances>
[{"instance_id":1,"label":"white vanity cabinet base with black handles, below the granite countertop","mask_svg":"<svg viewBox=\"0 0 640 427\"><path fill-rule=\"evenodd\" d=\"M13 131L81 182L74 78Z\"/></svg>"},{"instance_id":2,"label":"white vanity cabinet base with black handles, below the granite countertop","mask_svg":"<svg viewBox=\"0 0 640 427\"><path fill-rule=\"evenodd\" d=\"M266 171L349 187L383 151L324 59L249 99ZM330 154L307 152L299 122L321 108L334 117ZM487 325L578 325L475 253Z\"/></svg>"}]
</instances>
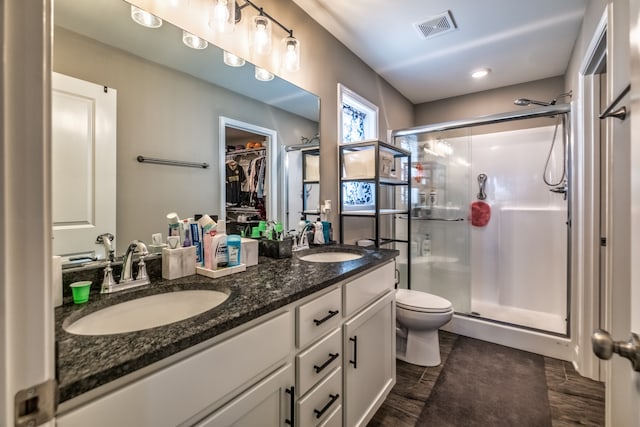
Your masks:
<instances>
[{"instance_id":1,"label":"white vanity cabinet base with black handles, below the granite countertop","mask_svg":"<svg viewBox=\"0 0 640 427\"><path fill-rule=\"evenodd\" d=\"M394 272L389 262L118 380L57 426L362 425L395 384Z\"/></svg>"}]
</instances>

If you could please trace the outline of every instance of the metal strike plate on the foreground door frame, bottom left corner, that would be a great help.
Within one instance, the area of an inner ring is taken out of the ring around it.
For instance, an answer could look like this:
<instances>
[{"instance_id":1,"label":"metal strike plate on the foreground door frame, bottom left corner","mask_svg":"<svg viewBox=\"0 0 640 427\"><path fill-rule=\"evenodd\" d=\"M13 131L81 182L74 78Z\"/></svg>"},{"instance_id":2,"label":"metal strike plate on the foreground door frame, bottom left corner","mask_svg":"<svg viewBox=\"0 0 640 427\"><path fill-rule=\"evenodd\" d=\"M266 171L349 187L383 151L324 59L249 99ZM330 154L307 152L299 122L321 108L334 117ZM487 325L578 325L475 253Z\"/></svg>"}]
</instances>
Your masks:
<instances>
[{"instance_id":1,"label":"metal strike plate on the foreground door frame, bottom left corner","mask_svg":"<svg viewBox=\"0 0 640 427\"><path fill-rule=\"evenodd\" d=\"M15 427L36 427L51 421L56 413L58 383L56 380L20 390L15 398Z\"/></svg>"}]
</instances>

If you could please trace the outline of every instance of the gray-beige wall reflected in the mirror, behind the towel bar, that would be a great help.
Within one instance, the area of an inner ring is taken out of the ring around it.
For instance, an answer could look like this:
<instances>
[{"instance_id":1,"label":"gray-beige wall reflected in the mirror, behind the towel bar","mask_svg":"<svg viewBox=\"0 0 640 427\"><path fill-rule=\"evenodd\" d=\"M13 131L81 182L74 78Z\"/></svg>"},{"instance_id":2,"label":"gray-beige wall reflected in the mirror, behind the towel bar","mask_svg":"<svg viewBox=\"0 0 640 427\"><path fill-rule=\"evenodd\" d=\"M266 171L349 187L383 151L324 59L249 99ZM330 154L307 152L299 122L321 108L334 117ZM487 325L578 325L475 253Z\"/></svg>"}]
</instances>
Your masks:
<instances>
[{"instance_id":1,"label":"gray-beige wall reflected in the mirror, behind the towel bar","mask_svg":"<svg viewBox=\"0 0 640 427\"><path fill-rule=\"evenodd\" d=\"M132 239L166 235L168 212L220 212L219 116L275 129L280 144L318 131L315 122L59 27L53 51L54 71L118 91L117 253ZM141 164L138 155L211 167Z\"/></svg>"}]
</instances>

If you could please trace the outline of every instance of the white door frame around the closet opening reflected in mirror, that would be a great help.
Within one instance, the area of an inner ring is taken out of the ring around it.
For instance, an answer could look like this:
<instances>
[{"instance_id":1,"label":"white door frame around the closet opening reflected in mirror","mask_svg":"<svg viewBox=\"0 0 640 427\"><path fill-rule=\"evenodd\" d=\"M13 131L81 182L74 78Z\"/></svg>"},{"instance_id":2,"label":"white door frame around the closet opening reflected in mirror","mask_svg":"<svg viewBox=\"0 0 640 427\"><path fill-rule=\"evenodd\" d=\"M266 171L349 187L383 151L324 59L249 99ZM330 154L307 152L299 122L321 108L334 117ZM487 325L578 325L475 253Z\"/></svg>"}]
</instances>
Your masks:
<instances>
[{"instance_id":1,"label":"white door frame around the closet opening reflected in mirror","mask_svg":"<svg viewBox=\"0 0 640 427\"><path fill-rule=\"evenodd\" d=\"M218 156L220 158L220 219L226 219L227 210L227 195L225 182L225 141L226 141L226 127L244 130L247 132L263 135L267 138L267 161L268 173L266 176L267 198L265 200L265 208L267 210L267 219L279 221L280 210L278 209L278 132L273 129L268 129L262 126L254 125L251 123L243 122L240 120L231 119L229 117L220 116L218 129ZM275 178L274 178L275 177Z\"/></svg>"}]
</instances>

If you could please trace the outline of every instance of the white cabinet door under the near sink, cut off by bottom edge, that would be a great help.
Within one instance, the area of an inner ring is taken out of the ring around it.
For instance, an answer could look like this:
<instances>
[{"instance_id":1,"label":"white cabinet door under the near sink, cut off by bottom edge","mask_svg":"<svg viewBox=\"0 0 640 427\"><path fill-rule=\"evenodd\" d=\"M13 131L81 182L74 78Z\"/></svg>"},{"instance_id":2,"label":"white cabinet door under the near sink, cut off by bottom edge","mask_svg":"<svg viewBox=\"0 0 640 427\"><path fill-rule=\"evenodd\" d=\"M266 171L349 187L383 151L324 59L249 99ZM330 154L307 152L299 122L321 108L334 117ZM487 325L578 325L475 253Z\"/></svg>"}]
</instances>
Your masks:
<instances>
[{"instance_id":1,"label":"white cabinet door under the near sink, cut off by bottom edge","mask_svg":"<svg viewBox=\"0 0 640 427\"><path fill-rule=\"evenodd\" d=\"M196 426L278 427L291 424L294 416L293 377L293 365L287 364Z\"/></svg>"}]
</instances>

